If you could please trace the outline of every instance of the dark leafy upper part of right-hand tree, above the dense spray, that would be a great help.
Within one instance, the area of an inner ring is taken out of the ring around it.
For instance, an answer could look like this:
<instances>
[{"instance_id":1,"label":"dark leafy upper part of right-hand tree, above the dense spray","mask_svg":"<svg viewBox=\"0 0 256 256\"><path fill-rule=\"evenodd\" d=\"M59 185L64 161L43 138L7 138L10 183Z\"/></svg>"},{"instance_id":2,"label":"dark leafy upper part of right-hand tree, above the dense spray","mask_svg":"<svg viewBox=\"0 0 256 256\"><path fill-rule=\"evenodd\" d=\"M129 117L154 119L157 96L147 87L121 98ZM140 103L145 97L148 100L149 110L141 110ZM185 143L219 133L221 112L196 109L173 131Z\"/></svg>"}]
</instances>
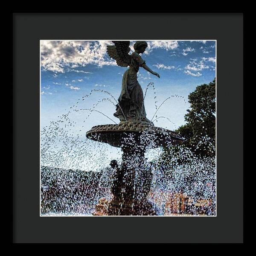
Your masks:
<instances>
[{"instance_id":1,"label":"dark leafy upper part of right-hand tree, above the dense spray","mask_svg":"<svg viewBox=\"0 0 256 256\"><path fill-rule=\"evenodd\" d=\"M188 98L187 123L177 132L185 138L184 145L199 156L215 156L215 79L196 87Z\"/></svg>"}]
</instances>

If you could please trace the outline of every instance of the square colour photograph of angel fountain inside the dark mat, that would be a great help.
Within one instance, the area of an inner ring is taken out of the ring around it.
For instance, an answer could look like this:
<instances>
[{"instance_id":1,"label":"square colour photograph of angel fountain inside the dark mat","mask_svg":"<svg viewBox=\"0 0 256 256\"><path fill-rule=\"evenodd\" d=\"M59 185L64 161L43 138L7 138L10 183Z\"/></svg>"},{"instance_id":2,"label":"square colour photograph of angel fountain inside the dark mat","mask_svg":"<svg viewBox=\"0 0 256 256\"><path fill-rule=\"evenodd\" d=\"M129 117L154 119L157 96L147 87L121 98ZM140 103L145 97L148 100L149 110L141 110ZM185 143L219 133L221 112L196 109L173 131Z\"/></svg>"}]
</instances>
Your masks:
<instances>
[{"instance_id":1,"label":"square colour photograph of angel fountain inside the dark mat","mask_svg":"<svg viewBox=\"0 0 256 256\"><path fill-rule=\"evenodd\" d=\"M40 40L40 216L218 216L217 42Z\"/></svg>"}]
</instances>

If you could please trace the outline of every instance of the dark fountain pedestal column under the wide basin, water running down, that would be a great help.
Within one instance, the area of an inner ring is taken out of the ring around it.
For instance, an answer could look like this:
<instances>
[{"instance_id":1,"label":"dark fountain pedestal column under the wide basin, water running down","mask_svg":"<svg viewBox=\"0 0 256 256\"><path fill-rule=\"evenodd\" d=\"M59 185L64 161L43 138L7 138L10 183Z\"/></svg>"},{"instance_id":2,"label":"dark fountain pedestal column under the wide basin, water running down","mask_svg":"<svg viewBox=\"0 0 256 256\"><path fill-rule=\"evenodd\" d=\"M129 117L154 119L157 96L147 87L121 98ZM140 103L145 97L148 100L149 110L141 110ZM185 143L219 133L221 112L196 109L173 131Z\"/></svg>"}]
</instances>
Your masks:
<instances>
[{"instance_id":1,"label":"dark fountain pedestal column under the wide basin, water running down","mask_svg":"<svg viewBox=\"0 0 256 256\"><path fill-rule=\"evenodd\" d=\"M147 200L152 173L145 162L145 147L134 143L122 146L121 168L112 175L113 199L108 203L108 215L156 215Z\"/></svg>"}]
</instances>

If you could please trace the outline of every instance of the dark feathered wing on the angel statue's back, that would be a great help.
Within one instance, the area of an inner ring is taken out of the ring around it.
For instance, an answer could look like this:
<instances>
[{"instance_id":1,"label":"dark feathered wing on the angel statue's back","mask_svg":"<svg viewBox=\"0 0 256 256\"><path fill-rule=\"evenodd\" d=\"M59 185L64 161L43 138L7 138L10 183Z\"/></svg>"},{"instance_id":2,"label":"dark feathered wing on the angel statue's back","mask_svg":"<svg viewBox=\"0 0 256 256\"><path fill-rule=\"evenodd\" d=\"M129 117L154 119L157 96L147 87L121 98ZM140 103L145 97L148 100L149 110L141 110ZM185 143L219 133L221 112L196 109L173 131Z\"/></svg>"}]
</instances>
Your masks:
<instances>
[{"instance_id":1,"label":"dark feathered wing on the angel statue's back","mask_svg":"<svg viewBox=\"0 0 256 256\"><path fill-rule=\"evenodd\" d=\"M108 56L116 60L120 67L127 67L131 63L129 52L130 41L112 41L115 45L107 45Z\"/></svg>"}]
</instances>

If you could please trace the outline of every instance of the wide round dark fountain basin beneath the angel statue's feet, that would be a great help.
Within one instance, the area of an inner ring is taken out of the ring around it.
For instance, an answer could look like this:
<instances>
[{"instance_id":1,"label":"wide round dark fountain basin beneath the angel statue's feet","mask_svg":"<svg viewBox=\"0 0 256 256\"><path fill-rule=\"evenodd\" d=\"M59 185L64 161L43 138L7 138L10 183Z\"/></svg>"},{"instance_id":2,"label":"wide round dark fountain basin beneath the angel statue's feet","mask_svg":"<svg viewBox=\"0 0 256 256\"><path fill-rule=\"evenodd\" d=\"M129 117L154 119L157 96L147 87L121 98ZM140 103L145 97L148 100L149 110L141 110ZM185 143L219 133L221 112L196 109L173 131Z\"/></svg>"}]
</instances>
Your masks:
<instances>
[{"instance_id":1,"label":"wide round dark fountain basin beneath the angel statue's feet","mask_svg":"<svg viewBox=\"0 0 256 256\"><path fill-rule=\"evenodd\" d=\"M132 141L134 146L145 145L148 149L177 145L184 141L184 138L176 132L156 127L148 122L96 125L87 131L86 137L118 148L126 145L127 141L130 144Z\"/></svg>"}]
</instances>

